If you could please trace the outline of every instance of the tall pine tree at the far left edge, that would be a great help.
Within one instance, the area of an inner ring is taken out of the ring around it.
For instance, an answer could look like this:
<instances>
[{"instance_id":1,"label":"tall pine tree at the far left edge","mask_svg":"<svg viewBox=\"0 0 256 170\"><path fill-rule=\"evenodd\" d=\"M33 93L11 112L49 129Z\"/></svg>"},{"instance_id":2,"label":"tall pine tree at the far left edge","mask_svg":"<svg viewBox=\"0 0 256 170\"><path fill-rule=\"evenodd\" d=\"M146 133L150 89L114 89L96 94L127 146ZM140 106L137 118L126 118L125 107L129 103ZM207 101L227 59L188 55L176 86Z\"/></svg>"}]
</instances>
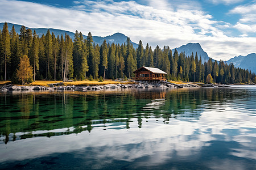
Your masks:
<instances>
[{"instance_id":1,"label":"tall pine tree at the far left edge","mask_svg":"<svg viewBox=\"0 0 256 170\"><path fill-rule=\"evenodd\" d=\"M10 35L8 31L8 24L6 22L3 25L3 31L1 36L1 52L5 56L5 81L6 81L7 63L10 62L10 55L11 55Z\"/></svg>"}]
</instances>

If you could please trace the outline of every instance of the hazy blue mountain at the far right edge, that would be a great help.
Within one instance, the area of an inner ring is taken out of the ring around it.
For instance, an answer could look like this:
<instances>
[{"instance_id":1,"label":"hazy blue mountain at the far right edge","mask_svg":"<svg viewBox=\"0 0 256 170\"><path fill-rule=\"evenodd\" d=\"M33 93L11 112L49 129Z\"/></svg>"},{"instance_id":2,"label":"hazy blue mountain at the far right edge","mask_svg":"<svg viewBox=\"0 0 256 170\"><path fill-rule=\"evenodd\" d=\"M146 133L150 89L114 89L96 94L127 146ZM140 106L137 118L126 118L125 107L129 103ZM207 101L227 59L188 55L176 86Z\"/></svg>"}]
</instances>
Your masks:
<instances>
[{"instance_id":1,"label":"hazy blue mountain at the far right edge","mask_svg":"<svg viewBox=\"0 0 256 170\"><path fill-rule=\"evenodd\" d=\"M256 54L251 53L247 56L238 56L229 59L227 63L233 63L235 67L240 67L242 69L248 69L251 70L251 72L256 73Z\"/></svg>"}]
</instances>

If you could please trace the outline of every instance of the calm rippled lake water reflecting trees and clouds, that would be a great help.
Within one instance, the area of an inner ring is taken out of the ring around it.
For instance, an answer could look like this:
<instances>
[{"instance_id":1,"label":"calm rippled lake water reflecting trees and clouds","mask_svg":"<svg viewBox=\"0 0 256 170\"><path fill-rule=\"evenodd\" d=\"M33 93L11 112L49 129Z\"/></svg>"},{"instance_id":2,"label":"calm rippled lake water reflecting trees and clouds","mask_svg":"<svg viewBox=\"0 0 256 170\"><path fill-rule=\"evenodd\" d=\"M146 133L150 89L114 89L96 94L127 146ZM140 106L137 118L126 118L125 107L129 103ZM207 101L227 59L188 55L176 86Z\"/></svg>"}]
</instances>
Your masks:
<instances>
[{"instance_id":1,"label":"calm rippled lake water reflecting trees and clouds","mask_svg":"<svg viewBox=\"0 0 256 170\"><path fill-rule=\"evenodd\" d=\"M0 169L256 169L255 86L0 101Z\"/></svg>"}]
</instances>

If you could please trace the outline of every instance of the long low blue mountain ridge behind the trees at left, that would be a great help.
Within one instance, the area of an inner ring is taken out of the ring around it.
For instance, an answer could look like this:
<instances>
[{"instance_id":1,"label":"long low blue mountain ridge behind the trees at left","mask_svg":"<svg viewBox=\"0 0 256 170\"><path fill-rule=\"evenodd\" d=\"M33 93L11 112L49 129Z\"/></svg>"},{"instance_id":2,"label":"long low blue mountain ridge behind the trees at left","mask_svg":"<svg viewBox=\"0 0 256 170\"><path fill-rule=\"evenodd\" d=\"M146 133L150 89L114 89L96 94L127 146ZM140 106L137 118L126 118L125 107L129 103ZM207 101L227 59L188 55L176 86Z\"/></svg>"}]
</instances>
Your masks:
<instances>
[{"instance_id":1,"label":"long low blue mountain ridge behind the trees at left","mask_svg":"<svg viewBox=\"0 0 256 170\"><path fill-rule=\"evenodd\" d=\"M3 24L5 23L0 23L0 29L3 28ZM17 33L19 33L20 28L22 27L22 25L18 25L18 24L13 24L13 23L8 23L8 29L9 31L11 31L11 28L13 27L15 28L15 31ZM25 26L26 27L26 26ZM34 32L34 30L36 31L36 34L40 36L42 36L43 34L46 35L46 32L49 31L53 32L55 34L55 36L59 35L61 36L61 34L64 36L65 33L67 33L72 40L74 39L75 33L70 32L70 31L64 31L61 29L53 29L53 28L28 28L26 27L26 29L31 29L32 32ZM83 35L84 38L86 39L87 36ZM124 42L126 42L127 40L127 36L123 35L122 33L114 33L113 35L110 36L106 36L106 37L100 37L100 36L93 36L93 41L95 42L95 44L99 44L101 45L102 42L106 40L107 44L110 43L112 44L112 42L114 42L114 44L123 44ZM131 42L134 46L134 48L138 48L138 44L136 44L135 42Z\"/></svg>"}]
</instances>

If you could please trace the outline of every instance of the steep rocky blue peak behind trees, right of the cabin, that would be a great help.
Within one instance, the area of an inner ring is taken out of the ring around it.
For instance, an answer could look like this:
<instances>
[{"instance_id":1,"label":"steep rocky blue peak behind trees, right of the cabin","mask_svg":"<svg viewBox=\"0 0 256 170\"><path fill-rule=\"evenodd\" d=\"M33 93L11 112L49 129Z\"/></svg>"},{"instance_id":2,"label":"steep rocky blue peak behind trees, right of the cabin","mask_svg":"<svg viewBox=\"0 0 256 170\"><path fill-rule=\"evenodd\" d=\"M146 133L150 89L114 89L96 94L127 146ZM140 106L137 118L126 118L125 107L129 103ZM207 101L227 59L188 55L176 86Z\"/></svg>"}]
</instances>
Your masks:
<instances>
[{"instance_id":1,"label":"steep rocky blue peak behind trees, right of the cabin","mask_svg":"<svg viewBox=\"0 0 256 170\"><path fill-rule=\"evenodd\" d=\"M201 48L201 45L199 43L188 43L187 45L182 45L179 48L176 48L178 53L185 52L187 56L191 56L192 52L194 54L194 57L197 56L198 58L202 58L202 62L208 61L209 56L207 53L204 52L204 50ZM175 49L172 49L172 54L174 53Z\"/></svg>"}]
</instances>

